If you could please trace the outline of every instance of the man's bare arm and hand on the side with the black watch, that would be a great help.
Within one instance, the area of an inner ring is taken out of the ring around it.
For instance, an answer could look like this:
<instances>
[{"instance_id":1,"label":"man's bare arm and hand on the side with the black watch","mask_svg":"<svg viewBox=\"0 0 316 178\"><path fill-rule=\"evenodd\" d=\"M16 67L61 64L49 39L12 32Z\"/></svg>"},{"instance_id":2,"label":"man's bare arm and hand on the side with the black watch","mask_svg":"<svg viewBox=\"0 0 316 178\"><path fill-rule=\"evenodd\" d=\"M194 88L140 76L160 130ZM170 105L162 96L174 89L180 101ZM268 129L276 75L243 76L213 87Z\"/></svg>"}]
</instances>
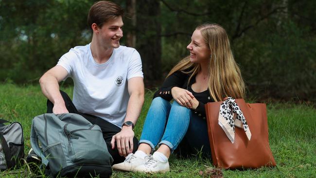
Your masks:
<instances>
[{"instance_id":1,"label":"man's bare arm and hand on the side with the black watch","mask_svg":"<svg viewBox=\"0 0 316 178\"><path fill-rule=\"evenodd\" d=\"M144 83L142 77L133 77L128 80L129 100L127 105L126 117L124 122L132 121L134 125L140 116L141 107L144 104ZM133 152L134 131L131 126L123 125L121 132L112 137L112 149L117 149L121 156L126 157Z\"/></svg>"}]
</instances>

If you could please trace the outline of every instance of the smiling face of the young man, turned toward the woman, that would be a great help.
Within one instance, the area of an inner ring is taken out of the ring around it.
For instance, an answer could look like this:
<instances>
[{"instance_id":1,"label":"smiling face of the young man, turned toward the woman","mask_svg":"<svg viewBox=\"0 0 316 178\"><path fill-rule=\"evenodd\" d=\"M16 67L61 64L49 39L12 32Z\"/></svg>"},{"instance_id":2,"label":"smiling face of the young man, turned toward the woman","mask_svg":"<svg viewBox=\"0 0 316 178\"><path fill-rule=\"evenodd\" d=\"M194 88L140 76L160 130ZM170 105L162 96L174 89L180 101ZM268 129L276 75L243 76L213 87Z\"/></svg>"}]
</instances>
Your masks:
<instances>
[{"instance_id":1,"label":"smiling face of the young man, turned toward the woman","mask_svg":"<svg viewBox=\"0 0 316 178\"><path fill-rule=\"evenodd\" d=\"M123 37L123 20L119 16L104 23L99 28L98 39L104 48L120 47L120 39Z\"/></svg>"}]
</instances>

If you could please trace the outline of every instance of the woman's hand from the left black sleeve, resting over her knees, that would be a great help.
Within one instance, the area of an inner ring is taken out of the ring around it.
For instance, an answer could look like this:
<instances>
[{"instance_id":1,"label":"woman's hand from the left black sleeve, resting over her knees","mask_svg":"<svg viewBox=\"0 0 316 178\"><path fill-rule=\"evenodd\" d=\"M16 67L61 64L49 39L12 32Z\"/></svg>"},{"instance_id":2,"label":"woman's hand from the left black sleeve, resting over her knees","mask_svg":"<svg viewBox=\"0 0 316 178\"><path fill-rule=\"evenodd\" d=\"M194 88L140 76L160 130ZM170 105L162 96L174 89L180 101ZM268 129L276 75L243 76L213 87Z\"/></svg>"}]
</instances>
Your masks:
<instances>
[{"instance_id":1,"label":"woman's hand from the left black sleeve, resting over her knees","mask_svg":"<svg viewBox=\"0 0 316 178\"><path fill-rule=\"evenodd\" d=\"M171 89L171 94L172 94L172 97L176 100L176 102L179 105L183 107L187 107L189 109L192 108L192 105L193 105L192 100L194 96L190 91L186 89L181 89L179 87L173 87Z\"/></svg>"}]
</instances>

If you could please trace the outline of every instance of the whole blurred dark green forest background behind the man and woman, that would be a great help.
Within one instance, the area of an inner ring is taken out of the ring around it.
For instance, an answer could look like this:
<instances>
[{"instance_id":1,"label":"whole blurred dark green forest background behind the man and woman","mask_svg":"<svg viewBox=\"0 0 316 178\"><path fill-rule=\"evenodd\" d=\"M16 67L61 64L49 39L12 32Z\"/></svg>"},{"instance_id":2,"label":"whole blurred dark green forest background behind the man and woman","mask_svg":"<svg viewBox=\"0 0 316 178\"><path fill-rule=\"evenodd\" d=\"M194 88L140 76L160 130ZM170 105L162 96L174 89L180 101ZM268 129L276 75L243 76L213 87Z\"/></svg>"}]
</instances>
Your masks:
<instances>
[{"instance_id":1,"label":"whole blurred dark green forest background behind the man and woman","mask_svg":"<svg viewBox=\"0 0 316 178\"><path fill-rule=\"evenodd\" d=\"M96 0L0 0L0 82L29 85L91 40ZM145 87L161 85L194 28L222 25L247 95L316 102L315 0L112 0L126 12L121 45L141 55ZM71 81L69 82L71 83Z\"/></svg>"}]
</instances>

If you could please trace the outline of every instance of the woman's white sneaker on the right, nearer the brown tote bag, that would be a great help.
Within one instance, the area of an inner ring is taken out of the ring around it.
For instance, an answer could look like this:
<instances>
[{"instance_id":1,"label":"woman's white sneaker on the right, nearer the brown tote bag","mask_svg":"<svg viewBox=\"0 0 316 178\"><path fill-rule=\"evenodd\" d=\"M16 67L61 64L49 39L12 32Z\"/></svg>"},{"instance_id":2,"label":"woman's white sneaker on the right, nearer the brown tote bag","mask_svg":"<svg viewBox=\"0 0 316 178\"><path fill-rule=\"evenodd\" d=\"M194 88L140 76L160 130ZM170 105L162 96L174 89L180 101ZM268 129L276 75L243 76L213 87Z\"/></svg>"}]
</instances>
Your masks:
<instances>
[{"instance_id":1,"label":"woman's white sneaker on the right, nearer the brown tote bag","mask_svg":"<svg viewBox=\"0 0 316 178\"><path fill-rule=\"evenodd\" d=\"M146 162L133 169L133 172L144 172L144 173L165 173L169 171L169 162L161 162L152 155L145 157Z\"/></svg>"}]
</instances>

